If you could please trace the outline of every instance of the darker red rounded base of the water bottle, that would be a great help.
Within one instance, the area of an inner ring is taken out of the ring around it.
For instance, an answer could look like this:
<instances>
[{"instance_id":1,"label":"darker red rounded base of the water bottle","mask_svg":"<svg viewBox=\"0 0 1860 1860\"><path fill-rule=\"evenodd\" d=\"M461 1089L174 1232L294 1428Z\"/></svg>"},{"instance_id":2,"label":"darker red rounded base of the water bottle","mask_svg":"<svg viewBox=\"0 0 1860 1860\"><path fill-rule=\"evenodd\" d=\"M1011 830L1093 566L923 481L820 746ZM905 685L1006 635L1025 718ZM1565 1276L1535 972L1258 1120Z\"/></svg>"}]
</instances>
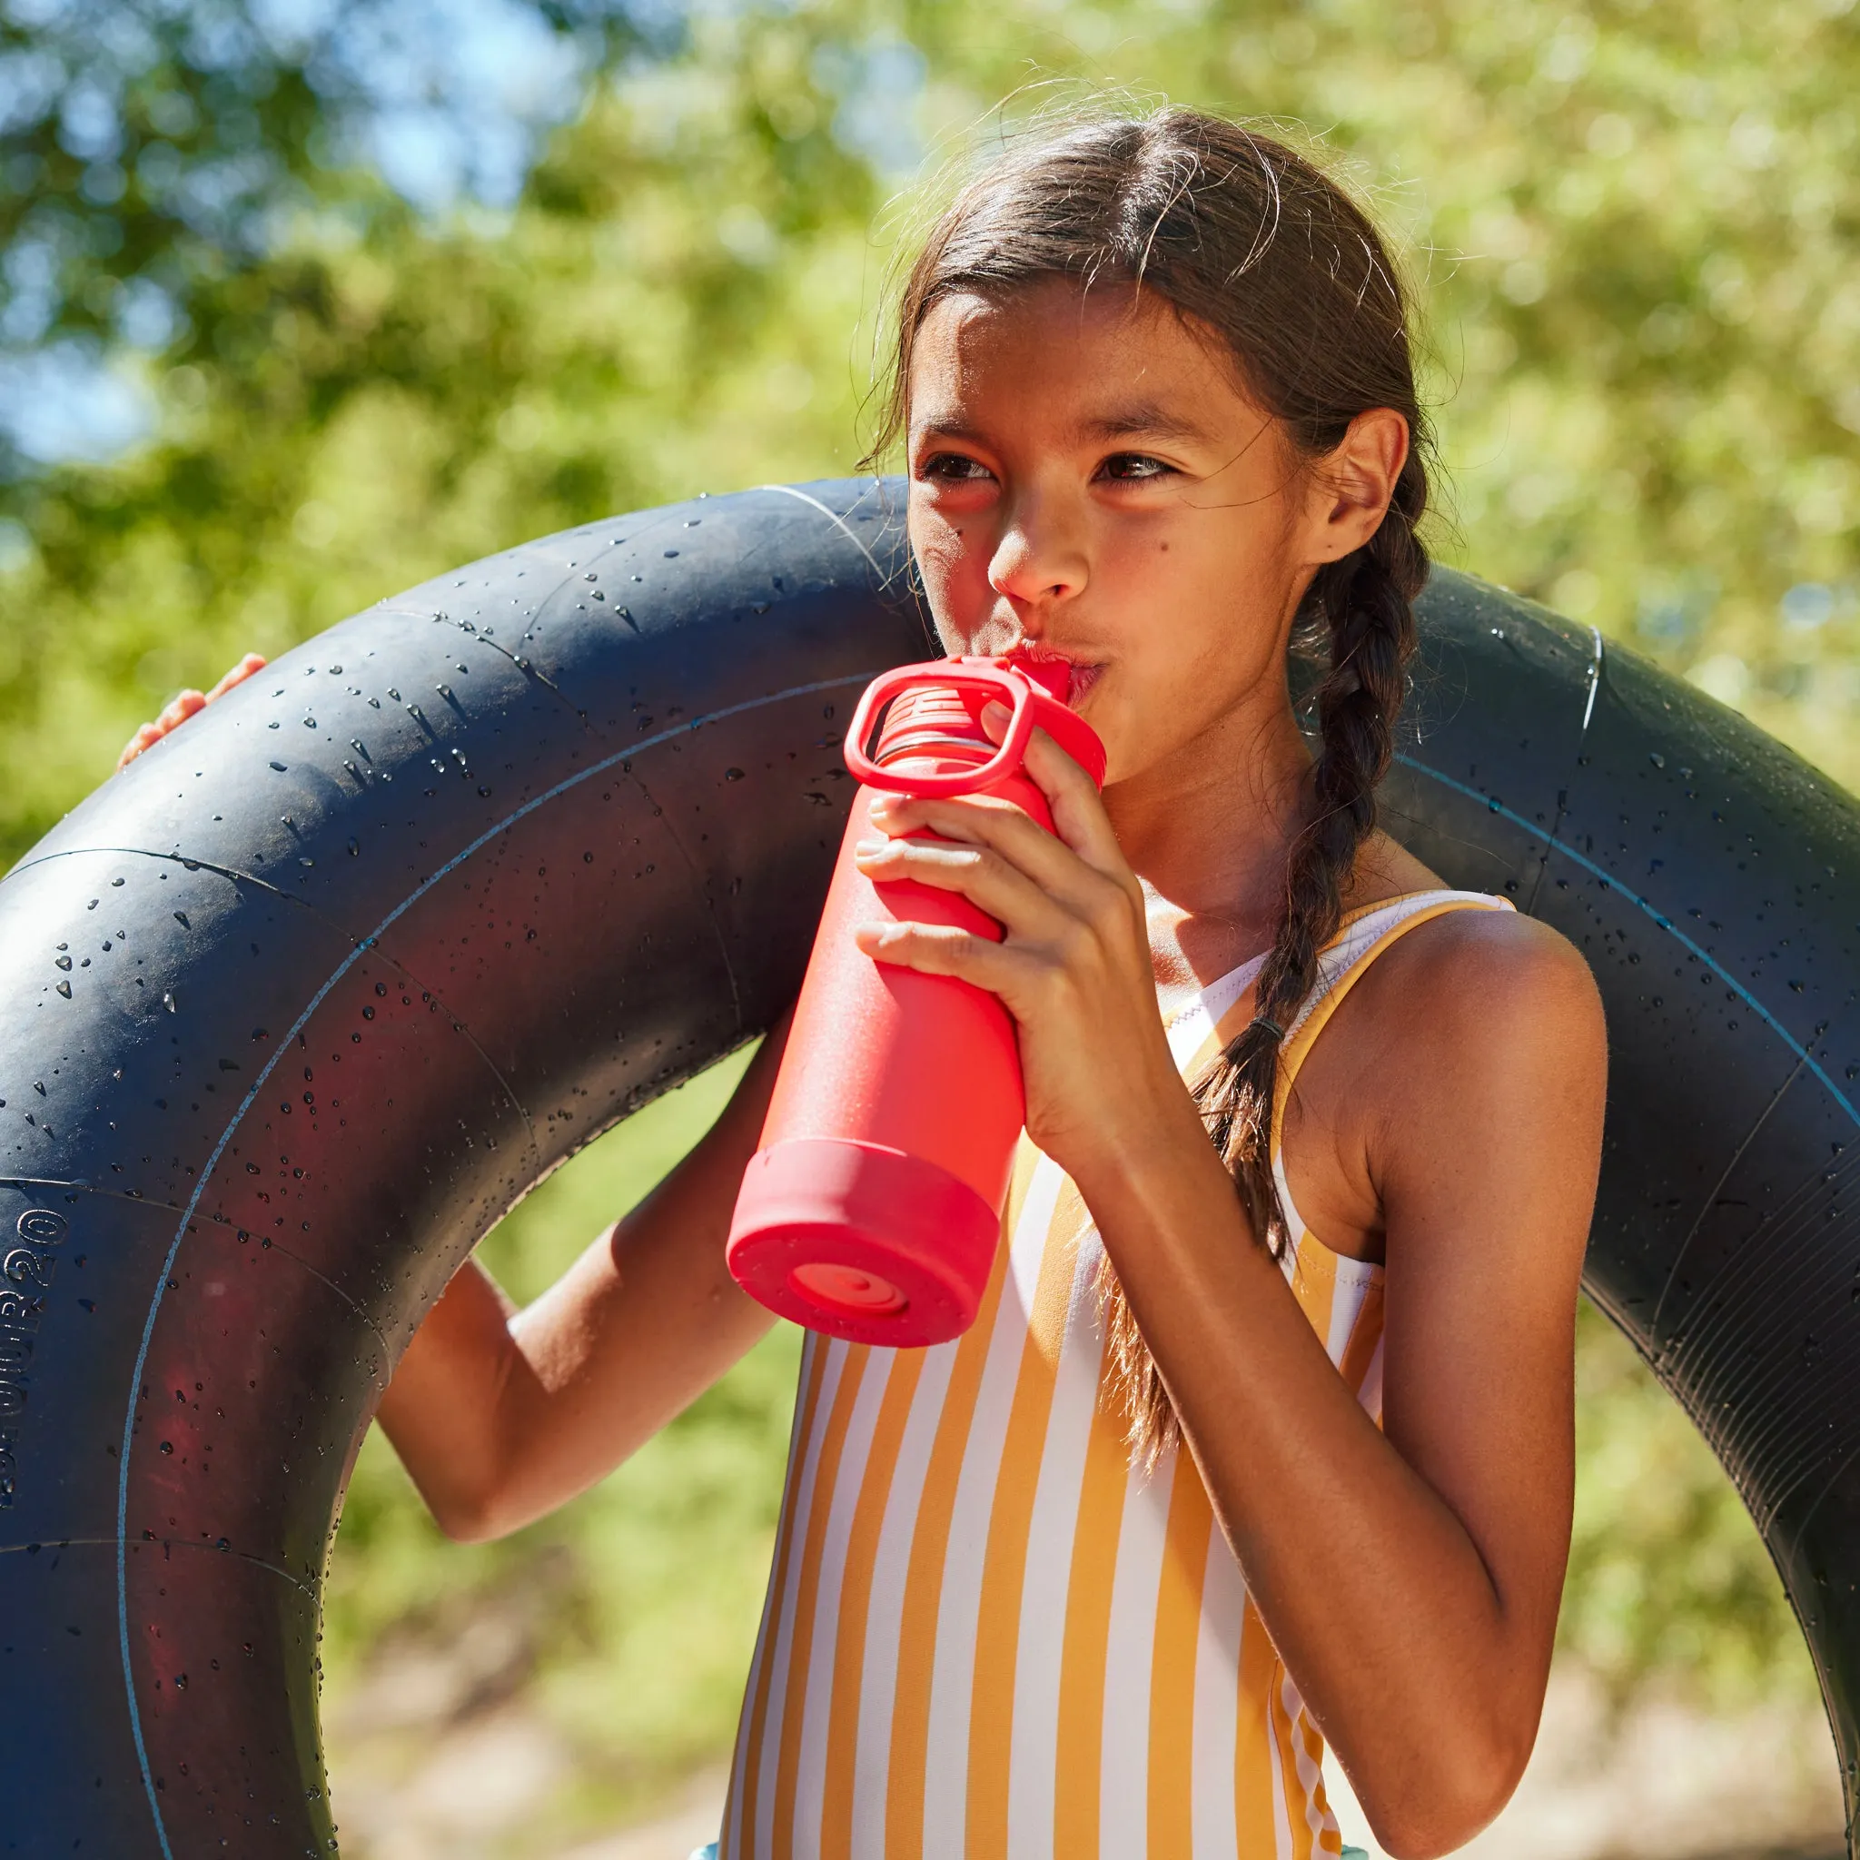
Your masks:
<instances>
[{"instance_id":1,"label":"darker red rounded base of the water bottle","mask_svg":"<svg viewBox=\"0 0 1860 1860\"><path fill-rule=\"evenodd\" d=\"M856 1138L759 1149L729 1228L751 1298L830 1337L921 1348L975 1322L1001 1215L923 1157Z\"/></svg>"}]
</instances>

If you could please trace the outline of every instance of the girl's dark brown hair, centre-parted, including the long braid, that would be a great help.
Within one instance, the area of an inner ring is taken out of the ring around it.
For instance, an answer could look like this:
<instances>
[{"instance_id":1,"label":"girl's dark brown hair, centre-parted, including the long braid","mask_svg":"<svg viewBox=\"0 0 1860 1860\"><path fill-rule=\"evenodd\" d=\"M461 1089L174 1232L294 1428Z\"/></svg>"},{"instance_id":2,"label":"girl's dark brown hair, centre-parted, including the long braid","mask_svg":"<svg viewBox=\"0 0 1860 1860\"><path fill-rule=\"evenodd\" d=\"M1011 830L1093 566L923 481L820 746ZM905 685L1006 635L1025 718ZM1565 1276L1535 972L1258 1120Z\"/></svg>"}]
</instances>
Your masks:
<instances>
[{"instance_id":1,"label":"girl's dark brown hair, centre-parted, including the long braid","mask_svg":"<svg viewBox=\"0 0 1860 1860\"><path fill-rule=\"evenodd\" d=\"M1319 742L1306 824L1287 859L1254 1019L1192 1084L1254 1233L1283 1257L1291 1239L1270 1162L1280 1045L1317 982L1343 887L1375 828L1414 649L1412 601L1428 565L1415 530L1430 435L1406 292L1363 208L1270 136L1190 110L1047 130L971 179L930 229L900 292L874 456L906 430L911 352L932 305L956 292L1003 299L1053 277L1081 290L1155 292L1190 327L1213 331L1304 463L1334 452L1371 407L1408 422L1408 458L1380 528L1324 564L1298 610L1295 638L1324 662L1308 699ZM1153 1464L1179 1427L1109 1259L1099 1298L1110 1393L1133 1453Z\"/></svg>"}]
</instances>

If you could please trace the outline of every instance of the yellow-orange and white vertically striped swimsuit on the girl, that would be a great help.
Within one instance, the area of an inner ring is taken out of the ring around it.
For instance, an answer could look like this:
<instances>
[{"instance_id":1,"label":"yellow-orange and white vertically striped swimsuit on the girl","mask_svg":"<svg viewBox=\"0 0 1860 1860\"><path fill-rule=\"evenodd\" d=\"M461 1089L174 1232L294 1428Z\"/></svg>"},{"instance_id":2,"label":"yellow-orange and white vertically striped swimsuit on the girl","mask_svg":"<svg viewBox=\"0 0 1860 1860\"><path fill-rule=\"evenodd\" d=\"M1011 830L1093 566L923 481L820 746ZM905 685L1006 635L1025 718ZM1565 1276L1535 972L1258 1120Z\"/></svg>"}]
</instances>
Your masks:
<instances>
[{"instance_id":1,"label":"yellow-orange and white vertically striped swimsuit on the girl","mask_svg":"<svg viewBox=\"0 0 1860 1860\"><path fill-rule=\"evenodd\" d=\"M1449 910L1345 919L1287 1030L1280 1105L1367 963ZM1168 1021L1192 1077L1257 958ZM1287 1278L1380 1421L1382 1269L1300 1222ZM1144 1477L1099 1401L1101 1242L1025 1136L973 1328L928 1350L809 1335L722 1860L1335 1856L1322 1739L1187 1453Z\"/></svg>"}]
</instances>

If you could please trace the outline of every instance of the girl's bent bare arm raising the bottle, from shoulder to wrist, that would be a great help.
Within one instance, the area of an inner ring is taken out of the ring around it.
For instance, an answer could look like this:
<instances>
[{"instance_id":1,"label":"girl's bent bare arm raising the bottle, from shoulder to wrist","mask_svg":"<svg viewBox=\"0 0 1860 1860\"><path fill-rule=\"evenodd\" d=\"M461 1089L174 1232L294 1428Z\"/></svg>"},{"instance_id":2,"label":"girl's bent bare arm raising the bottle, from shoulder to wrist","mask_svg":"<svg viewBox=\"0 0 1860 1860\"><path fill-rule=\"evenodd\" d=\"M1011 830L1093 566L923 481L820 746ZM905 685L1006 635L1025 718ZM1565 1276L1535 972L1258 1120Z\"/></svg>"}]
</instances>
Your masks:
<instances>
[{"instance_id":1,"label":"girl's bent bare arm raising the bottle, from shoulder to wrist","mask_svg":"<svg viewBox=\"0 0 1860 1860\"><path fill-rule=\"evenodd\" d=\"M1354 1073L1369 1123L1384 1430L1192 1107L1144 1107L1079 1187L1278 1652L1376 1838L1428 1856L1497 1814L1536 1737L1605 1040L1581 956L1529 921L1428 924L1384 965L1306 1068Z\"/></svg>"}]
</instances>

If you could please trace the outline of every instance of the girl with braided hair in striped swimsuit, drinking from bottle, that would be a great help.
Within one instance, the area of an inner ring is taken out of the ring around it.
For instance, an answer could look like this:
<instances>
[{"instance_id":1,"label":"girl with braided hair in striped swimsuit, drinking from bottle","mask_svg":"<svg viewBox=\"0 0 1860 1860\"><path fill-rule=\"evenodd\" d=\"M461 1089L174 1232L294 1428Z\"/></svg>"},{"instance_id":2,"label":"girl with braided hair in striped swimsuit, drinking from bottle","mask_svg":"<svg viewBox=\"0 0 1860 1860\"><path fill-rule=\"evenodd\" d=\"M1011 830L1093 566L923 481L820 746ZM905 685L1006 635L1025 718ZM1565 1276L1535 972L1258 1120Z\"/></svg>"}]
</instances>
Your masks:
<instances>
[{"instance_id":1,"label":"girl with braided hair in striped swimsuit, drinking from bottle","mask_svg":"<svg viewBox=\"0 0 1860 1860\"><path fill-rule=\"evenodd\" d=\"M1544 1698L1605 1043L1568 945L1375 830L1427 573L1395 272L1274 141L1086 123L932 231L898 437L943 645L1066 662L1110 766L1036 737L1058 837L889 800L861 848L1003 923L861 947L1004 1001L1027 1138L965 1337L809 1339L722 1853L1337 1854L1326 1747L1445 1853ZM541 1300L469 1265L435 1306L381 1425L448 1531L764 1328L722 1242L781 1032Z\"/></svg>"}]
</instances>

